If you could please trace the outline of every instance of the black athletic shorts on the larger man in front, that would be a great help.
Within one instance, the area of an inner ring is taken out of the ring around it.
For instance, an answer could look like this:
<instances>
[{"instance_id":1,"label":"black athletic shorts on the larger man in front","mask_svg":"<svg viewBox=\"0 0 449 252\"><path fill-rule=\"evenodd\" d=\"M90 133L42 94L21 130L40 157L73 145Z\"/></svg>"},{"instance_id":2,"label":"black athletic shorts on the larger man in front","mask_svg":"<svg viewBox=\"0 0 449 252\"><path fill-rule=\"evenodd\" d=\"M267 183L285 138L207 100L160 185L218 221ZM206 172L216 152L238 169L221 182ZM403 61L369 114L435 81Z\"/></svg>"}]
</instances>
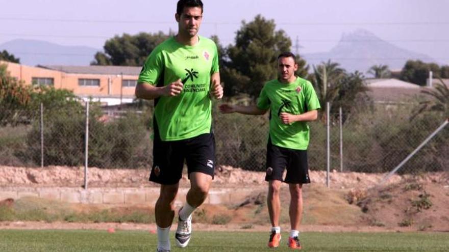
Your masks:
<instances>
[{"instance_id":1,"label":"black athletic shorts on the larger man in front","mask_svg":"<svg viewBox=\"0 0 449 252\"><path fill-rule=\"evenodd\" d=\"M172 185L182 178L184 161L187 173L204 173L214 177L215 137L213 133L198 135L179 141L162 141L155 134L153 168L149 181Z\"/></svg>"}]
</instances>

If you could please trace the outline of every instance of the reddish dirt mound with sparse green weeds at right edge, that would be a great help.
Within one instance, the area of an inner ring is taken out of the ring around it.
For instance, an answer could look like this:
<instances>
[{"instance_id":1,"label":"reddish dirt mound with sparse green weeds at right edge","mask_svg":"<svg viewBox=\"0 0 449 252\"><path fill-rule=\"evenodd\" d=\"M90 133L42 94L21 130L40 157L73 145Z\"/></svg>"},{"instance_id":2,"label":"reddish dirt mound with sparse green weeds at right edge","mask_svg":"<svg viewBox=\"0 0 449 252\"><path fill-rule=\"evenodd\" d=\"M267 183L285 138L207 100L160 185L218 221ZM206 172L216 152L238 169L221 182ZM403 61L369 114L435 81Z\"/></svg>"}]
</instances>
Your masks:
<instances>
[{"instance_id":1,"label":"reddish dirt mound with sparse green weeds at right edge","mask_svg":"<svg viewBox=\"0 0 449 252\"><path fill-rule=\"evenodd\" d=\"M404 180L378 190L356 204L369 225L449 231L449 185L438 181Z\"/></svg>"}]
</instances>

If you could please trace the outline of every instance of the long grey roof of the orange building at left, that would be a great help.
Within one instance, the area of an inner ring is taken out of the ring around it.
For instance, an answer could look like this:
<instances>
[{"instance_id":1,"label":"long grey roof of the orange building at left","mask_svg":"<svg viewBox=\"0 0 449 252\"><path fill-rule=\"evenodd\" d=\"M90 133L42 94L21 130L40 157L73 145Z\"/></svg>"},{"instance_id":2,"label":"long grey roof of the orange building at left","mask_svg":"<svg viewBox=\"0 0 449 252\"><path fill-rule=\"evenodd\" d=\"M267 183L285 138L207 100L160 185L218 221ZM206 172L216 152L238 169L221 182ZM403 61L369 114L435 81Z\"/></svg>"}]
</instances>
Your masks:
<instances>
[{"instance_id":1,"label":"long grey roof of the orange building at left","mask_svg":"<svg viewBox=\"0 0 449 252\"><path fill-rule=\"evenodd\" d=\"M47 65L38 67L61 71L65 73L105 74L105 75L139 75L141 67L130 66L58 66Z\"/></svg>"}]
</instances>

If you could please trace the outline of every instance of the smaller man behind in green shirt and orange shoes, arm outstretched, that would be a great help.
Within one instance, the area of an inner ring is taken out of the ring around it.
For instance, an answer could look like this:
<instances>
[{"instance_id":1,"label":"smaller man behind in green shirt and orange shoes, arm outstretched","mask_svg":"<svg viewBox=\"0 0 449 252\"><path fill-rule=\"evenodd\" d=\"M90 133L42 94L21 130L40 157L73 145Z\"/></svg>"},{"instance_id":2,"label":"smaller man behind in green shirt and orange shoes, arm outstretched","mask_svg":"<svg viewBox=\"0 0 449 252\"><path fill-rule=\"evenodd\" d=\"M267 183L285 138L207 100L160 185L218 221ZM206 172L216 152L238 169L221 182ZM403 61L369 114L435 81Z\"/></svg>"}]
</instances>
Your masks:
<instances>
[{"instance_id":1,"label":"smaller man behind in green shirt and orange shoes, arm outstretched","mask_svg":"<svg viewBox=\"0 0 449 252\"><path fill-rule=\"evenodd\" d=\"M257 105L238 106L222 104L222 113L263 115L270 110L269 136L266 154L266 176L268 181L267 205L271 220L269 247L278 247L281 240L279 217L281 183L289 184L290 225L288 246L301 249L299 226L303 213L303 184L310 183L307 163L309 126L307 122L318 117L318 97L312 84L294 75L298 66L295 55L281 53L278 57L279 78L265 83ZM285 179L284 170L287 169Z\"/></svg>"}]
</instances>

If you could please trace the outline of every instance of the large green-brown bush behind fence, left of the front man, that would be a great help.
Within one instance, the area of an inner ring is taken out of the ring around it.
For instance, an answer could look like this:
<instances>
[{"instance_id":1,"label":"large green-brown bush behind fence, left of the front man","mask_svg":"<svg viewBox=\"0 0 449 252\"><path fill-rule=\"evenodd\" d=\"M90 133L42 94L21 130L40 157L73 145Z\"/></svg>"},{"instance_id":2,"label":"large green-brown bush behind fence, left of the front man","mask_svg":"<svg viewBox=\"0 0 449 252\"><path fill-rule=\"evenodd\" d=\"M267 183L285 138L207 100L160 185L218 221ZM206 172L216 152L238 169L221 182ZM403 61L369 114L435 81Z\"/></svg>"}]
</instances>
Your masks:
<instances>
[{"instance_id":1,"label":"large green-brown bush behind fence, left of the front man","mask_svg":"<svg viewBox=\"0 0 449 252\"><path fill-rule=\"evenodd\" d=\"M84 110L84 109L83 109ZM44 164L79 166L85 159L85 115L83 110L60 110L44 123ZM101 120L93 107L89 115L89 166L138 168L149 163L148 131L140 116L126 116L109 122ZM28 153L40 163L40 125L33 124L27 137Z\"/></svg>"}]
</instances>

